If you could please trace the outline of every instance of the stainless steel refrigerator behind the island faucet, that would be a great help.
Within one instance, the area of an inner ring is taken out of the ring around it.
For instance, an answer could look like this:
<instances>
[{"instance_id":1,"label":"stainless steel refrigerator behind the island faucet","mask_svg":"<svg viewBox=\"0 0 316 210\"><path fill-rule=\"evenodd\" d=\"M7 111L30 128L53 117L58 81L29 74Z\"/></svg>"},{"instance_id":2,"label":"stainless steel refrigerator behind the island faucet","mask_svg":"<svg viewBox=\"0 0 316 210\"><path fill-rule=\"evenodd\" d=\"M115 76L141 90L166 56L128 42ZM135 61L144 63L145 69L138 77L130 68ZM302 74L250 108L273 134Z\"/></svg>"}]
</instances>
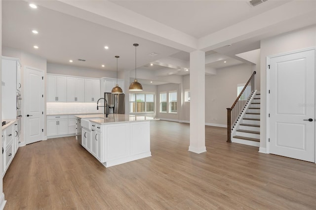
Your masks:
<instances>
[{"instance_id":1,"label":"stainless steel refrigerator behind the island faucet","mask_svg":"<svg viewBox=\"0 0 316 210\"><path fill-rule=\"evenodd\" d=\"M125 114L125 94L104 93L109 105L109 114Z\"/></svg>"}]
</instances>

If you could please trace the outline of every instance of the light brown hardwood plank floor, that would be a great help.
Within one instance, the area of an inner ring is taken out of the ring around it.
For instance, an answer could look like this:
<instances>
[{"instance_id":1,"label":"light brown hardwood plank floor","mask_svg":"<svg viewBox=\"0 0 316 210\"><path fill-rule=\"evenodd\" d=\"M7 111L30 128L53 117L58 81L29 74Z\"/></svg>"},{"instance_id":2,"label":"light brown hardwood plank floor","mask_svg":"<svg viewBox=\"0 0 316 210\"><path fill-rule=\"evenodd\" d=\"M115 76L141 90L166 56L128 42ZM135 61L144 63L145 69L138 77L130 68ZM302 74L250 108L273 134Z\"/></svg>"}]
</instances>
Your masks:
<instances>
[{"instance_id":1,"label":"light brown hardwood plank floor","mask_svg":"<svg viewBox=\"0 0 316 210\"><path fill-rule=\"evenodd\" d=\"M211 126L207 152L195 154L189 132L153 121L152 157L109 168L75 137L20 147L3 178L5 210L316 209L316 164L227 143Z\"/></svg>"}]
</instances>

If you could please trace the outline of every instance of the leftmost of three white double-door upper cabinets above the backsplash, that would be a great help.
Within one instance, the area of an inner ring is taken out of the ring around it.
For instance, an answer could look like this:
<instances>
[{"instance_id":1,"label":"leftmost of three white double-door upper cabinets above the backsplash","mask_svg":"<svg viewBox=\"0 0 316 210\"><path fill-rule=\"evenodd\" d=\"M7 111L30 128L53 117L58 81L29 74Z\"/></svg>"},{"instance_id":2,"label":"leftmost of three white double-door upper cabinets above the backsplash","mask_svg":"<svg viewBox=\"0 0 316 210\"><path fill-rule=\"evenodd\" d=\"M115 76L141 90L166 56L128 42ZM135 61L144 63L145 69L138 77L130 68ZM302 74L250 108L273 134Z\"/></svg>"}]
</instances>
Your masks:
<instances>
[{"instance_id":1,"label":"leftmost of three white double-door upper cabinets above the backsplash","mask_svg":"<svg viewBox=\"0 0 316 210\"><path fill-rule=\"evenodd\" d=\"M47 102L67 102L67 77L47 74Z\"/></svg>"}]
</instances>

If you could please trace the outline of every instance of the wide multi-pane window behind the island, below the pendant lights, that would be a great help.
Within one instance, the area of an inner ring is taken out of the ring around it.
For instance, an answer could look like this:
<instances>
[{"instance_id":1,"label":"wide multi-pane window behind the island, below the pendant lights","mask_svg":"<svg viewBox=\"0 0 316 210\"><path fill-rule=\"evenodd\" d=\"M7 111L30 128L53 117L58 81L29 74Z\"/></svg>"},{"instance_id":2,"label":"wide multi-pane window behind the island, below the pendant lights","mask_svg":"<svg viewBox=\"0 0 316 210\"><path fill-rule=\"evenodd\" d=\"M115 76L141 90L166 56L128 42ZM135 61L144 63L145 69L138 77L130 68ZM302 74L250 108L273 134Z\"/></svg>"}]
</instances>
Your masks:
<instances>
[{"instance_id":1,"label":"wide multi-pane window behind the island, below the pendant lights","mask_svg":"<svg viewBox=\"0 0 316 210\"><path fill-rule=\"evenodd\" d=\"M154 94L129 94L129 110L133 112L154 112Z\"/></svg>"}]
</instances>

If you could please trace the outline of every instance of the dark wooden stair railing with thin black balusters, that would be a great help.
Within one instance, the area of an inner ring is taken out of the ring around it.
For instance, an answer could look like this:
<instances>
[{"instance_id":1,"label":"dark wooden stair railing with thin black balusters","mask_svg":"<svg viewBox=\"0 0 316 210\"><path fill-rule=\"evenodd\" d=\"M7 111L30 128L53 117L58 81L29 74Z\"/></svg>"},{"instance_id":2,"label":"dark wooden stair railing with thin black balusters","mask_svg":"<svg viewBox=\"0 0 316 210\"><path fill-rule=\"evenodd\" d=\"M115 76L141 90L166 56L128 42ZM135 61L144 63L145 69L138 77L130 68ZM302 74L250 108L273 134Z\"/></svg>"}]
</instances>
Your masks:
<instances>
[{"instance_id":1,"label":"dark wooden stair railing with thin black balusters","mask_svg":"<svg viewBox=\"0 0 316 210\"><path fill-rule=\"evenodd\" d=\"M255 74L256 71L251 74L249 80L241 90L240 94L237 96L234 104L230 108L227 108L227 142L232 142L232 130L234 129L239 117L241 116L242 111L244 110L252 94L254 93ZM242 98L243 100L240 100Z\"/></svg>"}]
</instances>

